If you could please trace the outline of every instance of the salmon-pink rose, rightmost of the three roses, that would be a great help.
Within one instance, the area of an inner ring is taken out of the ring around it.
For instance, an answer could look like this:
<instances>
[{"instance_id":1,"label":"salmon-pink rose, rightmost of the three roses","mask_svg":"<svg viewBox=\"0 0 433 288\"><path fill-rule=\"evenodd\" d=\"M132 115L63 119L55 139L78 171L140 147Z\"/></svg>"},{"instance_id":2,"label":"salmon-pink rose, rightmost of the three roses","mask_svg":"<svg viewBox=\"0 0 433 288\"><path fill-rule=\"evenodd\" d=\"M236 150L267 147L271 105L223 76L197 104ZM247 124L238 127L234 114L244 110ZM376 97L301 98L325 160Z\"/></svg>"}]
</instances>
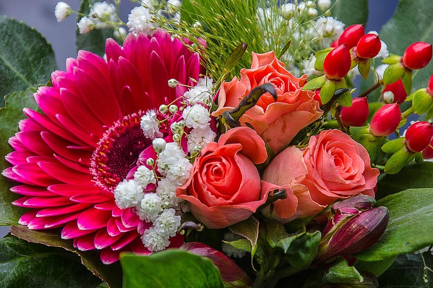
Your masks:
<instances>
[{"instance_id":1,"label":"salmon-pink rose, rightmost of the three roses","mask_svg":"<svg viewBox=\"0 0 433 288\"><path fill-rule=\"evenodd\" d=\"M262 212L288 222L316 214L337 199L374 198L378 175L363 145L340 130L325 130L303 151L290 146L271 161L262 175L262 193L285 188L287 198L274 202L275 214L269 207Z\"/></svg>"}]
</instances>

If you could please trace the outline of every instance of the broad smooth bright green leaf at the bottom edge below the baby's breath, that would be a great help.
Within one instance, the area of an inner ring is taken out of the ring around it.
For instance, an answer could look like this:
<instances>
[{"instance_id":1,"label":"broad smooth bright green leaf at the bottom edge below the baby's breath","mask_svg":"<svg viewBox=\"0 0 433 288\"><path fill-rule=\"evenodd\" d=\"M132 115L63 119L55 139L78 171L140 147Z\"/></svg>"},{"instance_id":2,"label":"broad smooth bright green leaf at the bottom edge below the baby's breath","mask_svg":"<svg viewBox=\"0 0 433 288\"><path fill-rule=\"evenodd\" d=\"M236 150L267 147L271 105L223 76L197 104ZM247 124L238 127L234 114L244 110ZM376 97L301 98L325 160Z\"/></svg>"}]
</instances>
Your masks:
<instances>
[{"instance_id":1,"label":"broad smooth bright green leaf at the bottom edge below the baby's breath","mask_svg":"<svg viewBox=\"0 0 433 288\"><path fill-rule=\"evenodd\" d=\"M150 256L122 254L124 287L223 288L218 268L212 261L178 249Z\"/></svg>"}]
</instances>

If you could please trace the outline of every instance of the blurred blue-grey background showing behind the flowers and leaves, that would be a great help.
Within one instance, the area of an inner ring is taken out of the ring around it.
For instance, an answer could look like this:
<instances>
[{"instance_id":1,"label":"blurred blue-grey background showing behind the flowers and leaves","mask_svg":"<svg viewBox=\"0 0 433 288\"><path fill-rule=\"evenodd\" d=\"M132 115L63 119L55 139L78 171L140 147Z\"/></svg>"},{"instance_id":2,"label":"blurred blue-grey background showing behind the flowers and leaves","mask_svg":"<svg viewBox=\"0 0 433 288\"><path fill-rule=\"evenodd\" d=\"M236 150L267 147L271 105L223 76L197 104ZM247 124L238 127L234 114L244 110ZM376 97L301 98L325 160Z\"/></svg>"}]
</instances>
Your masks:
<instances>
[{"instance_id":1,"label":"blurred blue-grey background showing behind the flowers and leaves","mask_svg":"<svg viewBox=\"0 0 433 288\"><path fill-rule=\"evenodd\" d=\"M80 0L63 0L73 10L77 11ZM340 0L344 1L344 0ZM54 7L58 0L1 0L0 15L7 15L25 22L42 33L53 46L56 62L59 69L64 69L68 57L76 57L75 51L75 15L69 16L65 21L57 23L54 17ZM394 14L398 0L369 0L369 18L366 32L380 28ZM128 0L122 1L120 16L127 21L129 11L135 5ZM0 237L9 231L8 227L0 227Z\"/></svg>"}]
</instances>

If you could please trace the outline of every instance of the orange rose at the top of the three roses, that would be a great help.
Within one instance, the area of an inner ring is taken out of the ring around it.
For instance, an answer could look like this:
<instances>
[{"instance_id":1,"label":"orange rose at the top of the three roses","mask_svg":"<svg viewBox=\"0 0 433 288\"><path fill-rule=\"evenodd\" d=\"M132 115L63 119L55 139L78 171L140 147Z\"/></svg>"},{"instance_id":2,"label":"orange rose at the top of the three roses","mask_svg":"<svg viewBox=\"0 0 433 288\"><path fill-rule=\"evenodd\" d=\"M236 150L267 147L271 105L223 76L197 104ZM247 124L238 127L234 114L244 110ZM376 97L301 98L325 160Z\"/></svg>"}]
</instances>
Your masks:
<instances>
[{"instance_id":1,"label":"orange rose at the top of the three roses","mask_svg":"<svg viewBox=\"0 0 433 288\"><path fill-rule=\"evenodd\" d=\"M265 83L274 86L277 101L265 93L257 104L239 119L241 124L251 125L257 134L275 153L284 149L296 134L317 120L323 111L313 99L314 92L301 88L307 75L296 78L284 68L284 63L275 58L274 51L252 53L251 69L241 70L241 80L222 83L218 94L218 109L214 116L221 115L239 105L239 102L255 88Z\"/></svg>"}]
</instances>

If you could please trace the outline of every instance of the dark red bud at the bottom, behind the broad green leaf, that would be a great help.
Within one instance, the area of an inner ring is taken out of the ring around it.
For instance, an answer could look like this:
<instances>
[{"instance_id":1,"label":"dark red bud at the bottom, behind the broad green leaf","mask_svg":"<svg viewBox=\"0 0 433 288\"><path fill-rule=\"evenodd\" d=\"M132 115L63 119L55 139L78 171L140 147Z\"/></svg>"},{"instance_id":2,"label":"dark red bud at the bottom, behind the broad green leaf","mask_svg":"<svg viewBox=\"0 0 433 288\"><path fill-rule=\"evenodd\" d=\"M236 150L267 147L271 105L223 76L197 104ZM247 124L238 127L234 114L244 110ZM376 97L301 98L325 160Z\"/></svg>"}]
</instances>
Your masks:
<instances>
[{"instance_id":1,"label":"dark red bud at the bottom, behind the broad green leaf","mask_svg":"<svg viewBox=\"0 0 433 288\"><path fill-rule=\"evenodd\" d=\"M252 282L244 270L238 267L224 253L200 242L185 243L180 247L189 253L211 259L218 268L222 281L230 287L252 287Z\"/></svg>"}]
</instances>

